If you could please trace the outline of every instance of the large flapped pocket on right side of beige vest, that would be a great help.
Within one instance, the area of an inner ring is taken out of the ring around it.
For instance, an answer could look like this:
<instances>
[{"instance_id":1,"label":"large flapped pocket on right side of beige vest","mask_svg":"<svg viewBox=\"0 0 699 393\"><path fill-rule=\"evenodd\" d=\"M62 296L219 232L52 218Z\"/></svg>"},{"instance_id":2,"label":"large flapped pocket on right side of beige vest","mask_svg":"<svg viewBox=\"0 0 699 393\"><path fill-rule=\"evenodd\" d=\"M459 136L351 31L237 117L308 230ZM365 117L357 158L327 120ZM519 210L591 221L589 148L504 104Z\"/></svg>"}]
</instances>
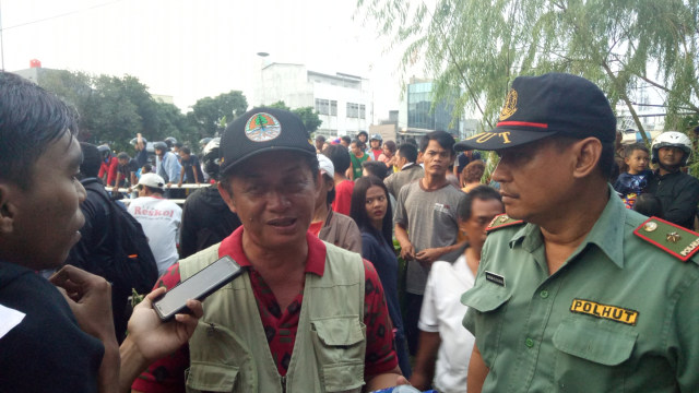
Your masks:
<instances>
[{"instance_id":1,"label":"large flapped pocket on right side of beige vest","mask_svg":"<svg viewBox=\"0 0 699 393\"><path fill-rule=\"evenodd\" d=\"M325 392L359 392L366 353L366 326L359 317L312 320L310 334Z\"/></svg>"}]
</instances>

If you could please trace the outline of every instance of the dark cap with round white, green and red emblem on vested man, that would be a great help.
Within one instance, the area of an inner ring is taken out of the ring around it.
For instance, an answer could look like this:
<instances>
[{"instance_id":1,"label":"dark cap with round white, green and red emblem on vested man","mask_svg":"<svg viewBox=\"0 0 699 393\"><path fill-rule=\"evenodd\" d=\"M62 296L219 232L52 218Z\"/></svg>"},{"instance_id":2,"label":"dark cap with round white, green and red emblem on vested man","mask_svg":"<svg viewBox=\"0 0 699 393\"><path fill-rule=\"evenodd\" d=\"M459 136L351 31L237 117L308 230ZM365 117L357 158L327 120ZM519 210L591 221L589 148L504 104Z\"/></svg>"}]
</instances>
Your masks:
<instances>
[{"instance_id":1,"label":"dark cap with round white, green and red emblem on vested man","mask_svg":"<svg viewBox=\"0 0 699 393\"><path fill-rule=\"evenodd\" d=\"M221 138L221 172L264 152L293 151L316 156L308 131L295 114L254 108L235 119Z\"/></svg>"}]
</instances>

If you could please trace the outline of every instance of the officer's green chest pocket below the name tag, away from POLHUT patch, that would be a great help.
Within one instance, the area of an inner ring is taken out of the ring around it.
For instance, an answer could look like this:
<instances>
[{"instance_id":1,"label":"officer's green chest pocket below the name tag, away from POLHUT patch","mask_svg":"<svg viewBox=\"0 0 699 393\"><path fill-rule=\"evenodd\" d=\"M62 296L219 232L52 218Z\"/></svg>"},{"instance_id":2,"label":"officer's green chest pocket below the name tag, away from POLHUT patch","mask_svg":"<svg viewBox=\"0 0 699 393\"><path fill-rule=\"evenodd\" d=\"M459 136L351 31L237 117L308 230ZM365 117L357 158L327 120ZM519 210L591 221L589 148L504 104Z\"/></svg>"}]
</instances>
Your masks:
<instances>
[{"instance_id":1,"label":"officer's green chest pocket below the name tag, away from POLHUT patch","mask_svg":"<svg viewBox=\"0 0 699 393\"><path fill-rule=\"evenodd\" d=\"M498 354L500 330L511 297L512 293L507 287L485 279L461 296L461 303L470 308L469 313L477 311L464 317L464 326L471 331L475 329L476 345L488 365L495 361Z\"/></svg>"}]
</instances>

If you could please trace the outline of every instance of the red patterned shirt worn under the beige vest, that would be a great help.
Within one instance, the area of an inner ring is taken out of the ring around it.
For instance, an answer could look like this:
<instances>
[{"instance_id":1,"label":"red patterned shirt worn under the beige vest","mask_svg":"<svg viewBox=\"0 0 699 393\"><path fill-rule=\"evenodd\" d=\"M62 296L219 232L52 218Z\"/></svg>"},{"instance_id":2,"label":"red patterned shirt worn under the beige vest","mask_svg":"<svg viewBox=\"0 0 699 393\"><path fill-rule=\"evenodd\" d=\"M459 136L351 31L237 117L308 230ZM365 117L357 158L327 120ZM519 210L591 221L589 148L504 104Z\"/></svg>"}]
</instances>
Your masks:
<instances>
[{"instance_id":1,"label":"red patterned shirt worn under the beige vest","mask_svg":"<svg viewBox=\"0 0 699 393\"><path fill-rule=\"evenodd\" d=\"M242 252L242 230L244 228L239 227L221 242L218 255L228 254L240 266L248 266L252 293L258 300L258 310L270 352L276 360L279 373L285 376L296 341L304 293L301 289L286 310L281 310L274 294ZM306 235L306 241L308 242L306 273L322 276L325 270L325 245L310 233ZM393 333L383 287L374 265L366 260L364 260L364 271L366 276L364 323L367 325L365 374L374 376L394 369L398 366L398 358L393 350ZM158 279L156 286L170 288L179 282L179 263L176 263ZM183 346L175 354L151 365L131 388L146 393L185 392L185 370L188 367L189 347Z\"/></svg>"}]
</instances>

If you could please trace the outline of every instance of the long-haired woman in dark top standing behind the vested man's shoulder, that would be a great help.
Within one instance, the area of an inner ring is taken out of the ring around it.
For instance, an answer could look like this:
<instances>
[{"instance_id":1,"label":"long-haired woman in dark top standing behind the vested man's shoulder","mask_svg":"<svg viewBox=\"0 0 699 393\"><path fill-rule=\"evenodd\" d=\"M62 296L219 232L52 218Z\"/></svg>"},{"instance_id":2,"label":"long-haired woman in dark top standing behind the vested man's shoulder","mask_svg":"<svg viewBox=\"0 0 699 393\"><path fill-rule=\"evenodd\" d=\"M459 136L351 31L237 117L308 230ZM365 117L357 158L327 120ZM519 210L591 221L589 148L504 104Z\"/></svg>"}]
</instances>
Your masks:
<instances>
[{"instance_id":1,"label":"long-haired woman in dark top standing behind the vested man's shoulder","mask_svg":"<svg viewBox=\"0 0 699 393\"><path fill-rule=\"evenodd\" d=\"M350 215L362 231L362 257L374 263L383 285L389 314L395 331L399 366L403 376L410 378L411 366L398 300L398 258L391 235L393 214L389 204L389 191L381 179L367 176L356 180L352 192Z\"/></svg>"}]
</instances>

